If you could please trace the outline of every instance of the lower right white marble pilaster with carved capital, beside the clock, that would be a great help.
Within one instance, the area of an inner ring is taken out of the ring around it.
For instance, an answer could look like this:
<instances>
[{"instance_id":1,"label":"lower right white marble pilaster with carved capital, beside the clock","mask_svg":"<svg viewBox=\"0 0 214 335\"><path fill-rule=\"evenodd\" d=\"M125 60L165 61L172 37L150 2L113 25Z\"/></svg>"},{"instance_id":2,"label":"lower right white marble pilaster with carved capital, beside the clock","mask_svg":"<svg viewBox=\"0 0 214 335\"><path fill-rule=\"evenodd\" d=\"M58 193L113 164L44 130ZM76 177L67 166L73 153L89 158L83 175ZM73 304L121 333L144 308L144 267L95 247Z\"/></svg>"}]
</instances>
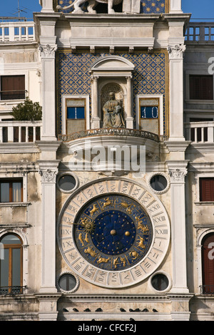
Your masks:
<instances>
[{"instance_id":1,"label":"lower right white marble pilaster with carved capital, beside the clock","mask_svg":"<svg viewBox=\"0 0 214 335\"><path fill-rule=\"evenodd\" d=\"M188 293L185 234L185 175L188 160L167 161L171 193L171 244L173 287L170 292Z\"/></svg>"}]
</instances>

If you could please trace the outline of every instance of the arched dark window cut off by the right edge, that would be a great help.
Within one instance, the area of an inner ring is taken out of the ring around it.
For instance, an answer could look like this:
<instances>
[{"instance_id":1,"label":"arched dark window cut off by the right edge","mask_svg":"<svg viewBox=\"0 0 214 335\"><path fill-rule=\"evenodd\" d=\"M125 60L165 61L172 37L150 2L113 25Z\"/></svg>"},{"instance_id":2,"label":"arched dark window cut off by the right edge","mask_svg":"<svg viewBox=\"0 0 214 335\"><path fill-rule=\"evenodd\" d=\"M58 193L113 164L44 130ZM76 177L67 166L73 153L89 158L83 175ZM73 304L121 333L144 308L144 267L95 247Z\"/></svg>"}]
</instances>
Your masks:
<instances>
[{"instance_id":1,"label":"arched dark window cut off by the right edge","mask_svg":"<svg viewBox=\"0 0 214 335\"><path fill-rule=\"evenodd\" d=\"M203 294L214 294L214 233L202 241Z\"/></svg>"}]
</instances>

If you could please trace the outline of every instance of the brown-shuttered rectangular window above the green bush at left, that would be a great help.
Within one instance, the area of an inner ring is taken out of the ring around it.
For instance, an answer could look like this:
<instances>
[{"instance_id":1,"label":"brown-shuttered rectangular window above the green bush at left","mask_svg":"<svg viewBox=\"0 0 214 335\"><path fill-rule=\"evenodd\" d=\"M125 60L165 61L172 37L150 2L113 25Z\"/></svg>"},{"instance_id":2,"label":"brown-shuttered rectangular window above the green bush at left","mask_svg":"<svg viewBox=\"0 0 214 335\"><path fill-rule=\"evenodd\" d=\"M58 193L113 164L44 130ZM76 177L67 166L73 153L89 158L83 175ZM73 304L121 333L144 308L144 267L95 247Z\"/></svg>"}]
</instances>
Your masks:
<instances>
[{"instance_id":1,"label":"brown-shuttered rectangular window above the green bush at left","mask_svg":"<svg viewBox=\"0 0 214 335\"><path fill-rule=\"evenodd\" d=\"M25 76L1 76L1 100L25 98Z\"/></svg>"}]
</instances>

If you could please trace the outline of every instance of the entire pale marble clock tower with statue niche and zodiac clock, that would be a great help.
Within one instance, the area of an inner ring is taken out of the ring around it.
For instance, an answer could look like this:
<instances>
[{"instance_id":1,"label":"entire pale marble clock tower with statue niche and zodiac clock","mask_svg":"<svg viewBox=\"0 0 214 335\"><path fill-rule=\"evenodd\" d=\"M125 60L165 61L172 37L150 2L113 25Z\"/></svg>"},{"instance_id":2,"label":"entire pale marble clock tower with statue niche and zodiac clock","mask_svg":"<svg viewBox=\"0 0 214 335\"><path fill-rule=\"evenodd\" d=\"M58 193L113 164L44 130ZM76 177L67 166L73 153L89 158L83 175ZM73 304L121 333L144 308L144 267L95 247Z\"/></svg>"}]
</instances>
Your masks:
<instances>
[{"instance_id":1,"label":"entire pale marble clock tower with statue niche and zodiac clock","mask_svg":"<svg viewBox=\"0 0 214 335\"><path fill-rule=\"evenodd\" d=\"M58 320L188 320L189 15L180 0L41 5L39 299Z\"/></svg>"}]
</instances>

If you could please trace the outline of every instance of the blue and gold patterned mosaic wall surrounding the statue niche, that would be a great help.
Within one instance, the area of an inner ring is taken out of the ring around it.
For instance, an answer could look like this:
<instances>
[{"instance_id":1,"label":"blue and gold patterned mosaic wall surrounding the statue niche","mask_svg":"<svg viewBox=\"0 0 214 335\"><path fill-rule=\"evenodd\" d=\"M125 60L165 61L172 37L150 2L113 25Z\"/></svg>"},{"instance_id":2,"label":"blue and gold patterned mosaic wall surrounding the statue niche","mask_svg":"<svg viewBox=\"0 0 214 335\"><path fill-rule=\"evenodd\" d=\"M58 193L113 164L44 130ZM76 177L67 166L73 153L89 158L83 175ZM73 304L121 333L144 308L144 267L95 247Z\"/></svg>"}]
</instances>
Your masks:
<instances>
[{"instance_id":1,"label":"blue and gold patterned mosaic wall surrounding the statue niche","mask_svg":"<svg viewBox=\"0 0 214 335\"><path fill-rule=\"evenodd\" d=\"M167 62L165 52L148 53L116 53L117 56L127 58L135 66L133 73L133 113L136 117L136 95L163 94L163 130L166 134L166 105L167 98ZM58 132L62 129L61 97L63 95L90 96L91 106L91 65L101 56L109 53L71 53L58 51ZM91 113L91 110L90 110Z\"/></svg>"}]
</instances>

